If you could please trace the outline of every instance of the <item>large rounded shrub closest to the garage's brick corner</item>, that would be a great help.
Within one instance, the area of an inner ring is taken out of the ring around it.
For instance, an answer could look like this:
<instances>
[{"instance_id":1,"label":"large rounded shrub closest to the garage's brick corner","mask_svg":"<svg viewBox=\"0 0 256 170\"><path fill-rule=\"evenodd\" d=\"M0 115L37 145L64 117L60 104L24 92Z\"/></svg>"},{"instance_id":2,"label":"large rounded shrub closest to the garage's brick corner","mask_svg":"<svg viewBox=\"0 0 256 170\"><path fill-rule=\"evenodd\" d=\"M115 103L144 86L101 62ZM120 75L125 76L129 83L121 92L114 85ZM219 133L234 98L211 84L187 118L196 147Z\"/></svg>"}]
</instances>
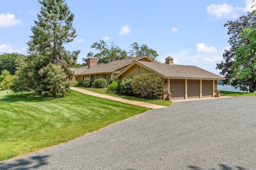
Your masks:
<instances>
[{"instance_id":1,"label":"large rounded shrub closest to the garage's brick corner","mask_svg":"<svg viewBox=\"0 0 256 170\"><path fill-rule=\"evenodd\" d=\"M162 78L152 72L139 74L133 78L132 91L141 98L162 98L163 90Z\"/></svg>"}]
</instances>

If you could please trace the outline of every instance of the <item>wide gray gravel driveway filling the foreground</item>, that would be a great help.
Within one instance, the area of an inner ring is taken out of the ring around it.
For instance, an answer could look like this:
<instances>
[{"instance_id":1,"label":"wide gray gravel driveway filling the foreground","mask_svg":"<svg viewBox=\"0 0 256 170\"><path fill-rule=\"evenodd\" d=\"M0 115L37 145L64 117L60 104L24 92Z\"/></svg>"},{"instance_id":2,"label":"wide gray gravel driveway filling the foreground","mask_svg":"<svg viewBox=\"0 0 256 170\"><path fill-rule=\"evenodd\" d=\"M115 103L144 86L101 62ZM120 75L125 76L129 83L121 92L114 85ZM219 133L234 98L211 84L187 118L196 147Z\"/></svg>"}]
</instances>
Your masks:
<instances>
[{"instance_id":1,"label":"wide gray gravel driveway filling the foreground","mask_svg":"<svg viewBox=\"0 0 256 170\"><path fill-rule=\"evenodd\" d=\"M254 170L256 97L177 102L2 169Z\"/></svg>"}]
</instances>

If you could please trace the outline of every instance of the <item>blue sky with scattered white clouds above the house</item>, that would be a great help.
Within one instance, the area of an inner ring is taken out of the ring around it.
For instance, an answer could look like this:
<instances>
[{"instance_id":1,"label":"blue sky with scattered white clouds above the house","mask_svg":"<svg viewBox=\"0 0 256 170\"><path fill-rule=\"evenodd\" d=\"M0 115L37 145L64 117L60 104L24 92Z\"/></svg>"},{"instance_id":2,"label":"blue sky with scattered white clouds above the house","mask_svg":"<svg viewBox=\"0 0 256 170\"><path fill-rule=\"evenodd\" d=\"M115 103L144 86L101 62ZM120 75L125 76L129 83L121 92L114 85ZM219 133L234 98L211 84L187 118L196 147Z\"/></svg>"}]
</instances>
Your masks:
<instances>
[{"instance_id":1,"label":"blue sky with scattered white clouds above the house","mask_svg":"<svg viewBox=\"0 0 256 170\"><path fill-rule=\"evenodd\" d=\"M174 64L193 65L219 74L216 63L229 49L227 21L237 20L255 8L252 0L66 0L75 15L77 37L65 45L80 50L83 63L91 45L100 40L114 42L129 51L134 42L146 44L158 53L158 61L168 56ZM256 4L254 2L254 4ZM38 21L41 4L37 0L0 0L0 54L27 55L31 27Z\"/></svg>"}]
</instances>

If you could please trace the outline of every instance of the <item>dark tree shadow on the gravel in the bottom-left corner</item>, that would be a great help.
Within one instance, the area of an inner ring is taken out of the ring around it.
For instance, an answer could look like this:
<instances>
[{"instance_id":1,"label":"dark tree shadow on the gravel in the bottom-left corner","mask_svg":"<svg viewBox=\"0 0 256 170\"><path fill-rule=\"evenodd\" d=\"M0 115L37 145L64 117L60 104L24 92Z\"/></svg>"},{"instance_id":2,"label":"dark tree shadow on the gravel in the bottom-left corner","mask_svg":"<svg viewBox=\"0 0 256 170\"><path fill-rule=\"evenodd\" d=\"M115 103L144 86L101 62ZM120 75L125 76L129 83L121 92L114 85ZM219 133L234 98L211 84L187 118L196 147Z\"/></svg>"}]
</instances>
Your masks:
<instances>
[{"instance_id":1,"label":"dark tree shadow on the gravel in the bottom-left corner","mask_svg":"<svg viewBox=\"0 0 256 170\"><path fill-rule=\"evenodd\" d=\"M49 156L32 156L29 159L15 159L0 162L0 170L29 170L32 168L43 169L46 165L46 158ZM40 168L41 167L41 168Z\"/></svg>"}]
</instances>

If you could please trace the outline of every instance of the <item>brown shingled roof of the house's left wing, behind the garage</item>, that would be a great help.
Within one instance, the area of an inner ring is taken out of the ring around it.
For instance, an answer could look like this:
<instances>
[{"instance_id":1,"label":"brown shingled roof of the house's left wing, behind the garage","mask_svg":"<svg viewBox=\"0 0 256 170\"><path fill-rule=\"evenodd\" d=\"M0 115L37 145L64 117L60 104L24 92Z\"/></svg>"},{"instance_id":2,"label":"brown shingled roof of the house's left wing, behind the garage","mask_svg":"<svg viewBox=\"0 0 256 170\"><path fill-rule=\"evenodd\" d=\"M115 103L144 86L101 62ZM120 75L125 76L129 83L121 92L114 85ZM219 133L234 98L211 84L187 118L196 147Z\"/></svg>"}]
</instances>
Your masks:
<instances>
[{"instance_id":1,"label":"brown shingled roof of the house's left wing, behind the garage","mask_svg":"<svg viewBox=\"0 0 256 170\"><path fill-rule=\"evenodd\" d=\"M122 68L122 67L132 63L133 61L137 61L137 60L140 60L143 58L146 59L147 61L152 61L147 56L140 56L140 57L134 57L134 58L130 58L130 59L113 61L113 62L107 63L107 64L97 64L96 66L92 66L90 68L88 68L88 66L87 66L87 67L80 68L81 70L76 70L76 68L70 68L70 69L75 70L75 75L99 74L99 73L104 73L104 72L113 72L119 68ZM154 61L152 61L152 62L154 62ZM151 63L151 62L148 62L148 63Z\"/></svg>"}]
</instances>

